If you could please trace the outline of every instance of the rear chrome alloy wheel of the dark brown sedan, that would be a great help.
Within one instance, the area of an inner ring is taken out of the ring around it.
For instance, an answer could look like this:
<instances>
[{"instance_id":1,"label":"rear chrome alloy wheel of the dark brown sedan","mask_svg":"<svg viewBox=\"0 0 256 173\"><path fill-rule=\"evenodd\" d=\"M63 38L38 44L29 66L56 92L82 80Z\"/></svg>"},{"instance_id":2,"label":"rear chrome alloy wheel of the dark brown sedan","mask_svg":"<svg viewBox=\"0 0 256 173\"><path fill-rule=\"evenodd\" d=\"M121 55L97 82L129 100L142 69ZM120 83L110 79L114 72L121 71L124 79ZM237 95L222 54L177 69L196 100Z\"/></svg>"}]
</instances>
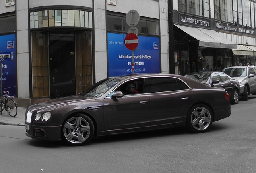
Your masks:
<instances>
[{"instance_id":1,"label":"rear chrome alloy wheel of the dark brown sedan","mask_svg":"<svg viewBox=\"0 0 256 173\"><path fill-rule=\"evenodd\" d=\"M196 107L190 117L194 129L203 131L211 125L211 113L206 107Z\"/></svg>"}]
</instances>

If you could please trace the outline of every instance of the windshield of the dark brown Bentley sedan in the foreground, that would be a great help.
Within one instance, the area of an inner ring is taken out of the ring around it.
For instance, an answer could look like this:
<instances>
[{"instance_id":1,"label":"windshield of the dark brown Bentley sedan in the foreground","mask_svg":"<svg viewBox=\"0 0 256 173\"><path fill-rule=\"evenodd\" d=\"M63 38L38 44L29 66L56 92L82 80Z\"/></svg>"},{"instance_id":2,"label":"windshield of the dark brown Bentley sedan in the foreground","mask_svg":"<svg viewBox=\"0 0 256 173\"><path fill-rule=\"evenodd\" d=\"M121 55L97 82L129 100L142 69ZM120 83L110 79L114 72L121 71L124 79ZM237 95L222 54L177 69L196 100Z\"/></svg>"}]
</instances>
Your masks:
<instances>
[{"instance_id":1,"label":"windshield of the dark brown Bentley sedan in the foreground","mask_svg":"<svg viewBox=\"0 0 256 173\"><path fill-rule=\"evenodd\" d=\"M103 94L105 94L109 89L111 89L115 84L120 82L120 79L116 78L107 78L103 79L90 88L86 89L80 95L86 96L86 97L100 97Z\"/></svg>"}]
</instances>

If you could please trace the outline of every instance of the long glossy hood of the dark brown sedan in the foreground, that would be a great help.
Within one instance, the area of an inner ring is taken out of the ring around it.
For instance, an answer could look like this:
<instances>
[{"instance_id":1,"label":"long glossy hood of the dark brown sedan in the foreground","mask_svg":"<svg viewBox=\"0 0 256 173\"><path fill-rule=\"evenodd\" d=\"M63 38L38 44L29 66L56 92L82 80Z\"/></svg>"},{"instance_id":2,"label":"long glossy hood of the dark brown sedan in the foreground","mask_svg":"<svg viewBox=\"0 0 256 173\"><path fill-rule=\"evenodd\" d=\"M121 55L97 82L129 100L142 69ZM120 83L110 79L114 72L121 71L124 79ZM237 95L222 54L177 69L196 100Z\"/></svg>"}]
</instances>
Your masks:
<instances>
[{"instance_id":1,"label":"long glossy hood of the dark brown sedan in the foreground","mask_svg":"<svg viewBox=\"0 0 256 173\"><path fill-rule=\"evenodd\" d=\"M81 100L95 100L96 98L91 98L91 97L85 97L83 95L73 95L73 96L68 96L68 97L61 97L58 99L52 99L50 101L45 101L42 103L38 103L35 105L31 105L29 107L29 109L40 109L43 107L50 107L50 106L62 106L62 105L67 105L70 104L72 102L76 102L76 101L81 101Z\"/></svg>"}]
</instances>

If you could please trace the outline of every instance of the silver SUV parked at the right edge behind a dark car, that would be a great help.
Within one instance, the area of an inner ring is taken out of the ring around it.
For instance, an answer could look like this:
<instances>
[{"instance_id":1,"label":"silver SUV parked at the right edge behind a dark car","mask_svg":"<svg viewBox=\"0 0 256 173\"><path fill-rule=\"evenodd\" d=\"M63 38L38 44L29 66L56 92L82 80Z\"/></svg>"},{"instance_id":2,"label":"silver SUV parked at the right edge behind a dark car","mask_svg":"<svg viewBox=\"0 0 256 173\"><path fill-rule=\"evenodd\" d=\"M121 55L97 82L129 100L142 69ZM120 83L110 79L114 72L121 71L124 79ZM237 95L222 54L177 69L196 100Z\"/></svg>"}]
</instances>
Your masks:
<instances>
[{"instance_id":1,"label":"silver SUV parked at the right edge behind a dark car","mask_svg":"<svg viewBox=\"0 0 256 173\"><path fill-rule=\"evenodd\" d=\"M222 72L239 81L240 95L243 100L248 100L250 94L256 95L256 67L254 65L231 66L224 68Z\"/></svg>"}]
</instances>

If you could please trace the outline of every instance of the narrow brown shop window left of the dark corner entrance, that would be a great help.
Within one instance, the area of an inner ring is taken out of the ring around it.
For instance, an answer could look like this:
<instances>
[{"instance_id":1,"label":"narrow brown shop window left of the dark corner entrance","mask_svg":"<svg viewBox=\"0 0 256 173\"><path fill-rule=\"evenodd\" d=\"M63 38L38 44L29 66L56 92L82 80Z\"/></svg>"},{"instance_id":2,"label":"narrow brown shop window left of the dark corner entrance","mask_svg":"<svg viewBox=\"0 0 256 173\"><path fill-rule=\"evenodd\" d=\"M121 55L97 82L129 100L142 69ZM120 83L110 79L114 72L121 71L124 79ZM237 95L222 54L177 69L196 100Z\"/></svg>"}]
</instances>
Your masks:
<instances>
[{"instance_id":1,"label":"narrow brown shop window left of the dark corner entrance","mask_svg":"<svg viewBox=\"0 0 256 173\"><path fill-rule=\"evenodd\" d=\"M49 96L48 33L31 32L33 97Z\"/></svg>"}]
</instances>

